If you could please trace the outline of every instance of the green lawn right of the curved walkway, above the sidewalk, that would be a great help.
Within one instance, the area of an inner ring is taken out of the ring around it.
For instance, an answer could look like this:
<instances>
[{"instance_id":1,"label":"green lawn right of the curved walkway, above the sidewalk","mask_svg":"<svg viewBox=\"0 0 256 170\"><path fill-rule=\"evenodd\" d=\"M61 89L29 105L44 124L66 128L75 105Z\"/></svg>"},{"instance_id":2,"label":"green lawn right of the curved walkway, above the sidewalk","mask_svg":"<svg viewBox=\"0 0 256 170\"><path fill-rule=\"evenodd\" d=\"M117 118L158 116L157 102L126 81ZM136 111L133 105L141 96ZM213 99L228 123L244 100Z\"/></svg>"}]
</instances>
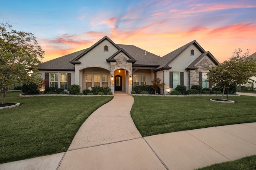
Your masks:
<instances>
[{"instance_id":1,"label":"green lawn right of the curved walkway, above the sidewalk","mask_svg":"<svg viewBox=\"0 0 256 170\"><path fill-rule=\"evenodd\" d=\"M256 122L256 97L229 97L234 104L212 97L133 97L131 116L142 136Z\"/></svg>"}]
</instances>

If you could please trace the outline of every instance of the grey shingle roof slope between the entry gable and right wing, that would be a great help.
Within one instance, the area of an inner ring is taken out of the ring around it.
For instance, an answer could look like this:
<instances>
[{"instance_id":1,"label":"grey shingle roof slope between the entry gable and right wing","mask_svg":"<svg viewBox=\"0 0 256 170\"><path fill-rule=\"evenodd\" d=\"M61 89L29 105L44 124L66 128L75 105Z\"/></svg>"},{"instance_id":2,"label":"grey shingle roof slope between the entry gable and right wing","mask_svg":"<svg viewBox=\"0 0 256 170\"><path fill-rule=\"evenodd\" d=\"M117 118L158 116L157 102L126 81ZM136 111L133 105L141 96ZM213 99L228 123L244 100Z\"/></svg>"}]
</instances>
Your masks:
<instances>
[{"instance_id":1,"label":"grey shingle roof slope between the entry gable and right wing","mask_svg":"<svg viewBox=\"0 0 256 170\"><path fill-rule=\"evenodd\" d=\"M159 57L158 55L145 51L144 49L141 49L134 45L123 45L123 44L117 44L117 45L122 49L124 49L128 54L130 54L136 60L136 62L133 65L154 65L156 67L160 65L159 61L161 57ZM145 55L145 52L146 52L146 55Z\"/></svg>"}]
</instances>

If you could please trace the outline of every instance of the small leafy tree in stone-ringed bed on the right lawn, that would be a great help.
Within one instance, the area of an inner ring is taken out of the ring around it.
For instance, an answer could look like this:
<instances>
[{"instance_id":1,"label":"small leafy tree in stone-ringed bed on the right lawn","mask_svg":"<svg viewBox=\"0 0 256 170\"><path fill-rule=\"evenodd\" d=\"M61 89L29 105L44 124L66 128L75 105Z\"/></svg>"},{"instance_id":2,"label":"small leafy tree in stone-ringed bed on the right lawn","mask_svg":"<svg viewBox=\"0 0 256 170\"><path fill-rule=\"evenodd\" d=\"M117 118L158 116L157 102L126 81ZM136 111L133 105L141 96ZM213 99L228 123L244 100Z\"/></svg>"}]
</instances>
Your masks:
<instances>
[{"instance_id":1,"label":"small leafy tree in stone-ringed bed on the right lawn","mask_svg":"<svg viewBox=\"0 0 256 170\"><path fill-rule=\"evenodd\" d=\"M207 81L223 84L223 100L226 85L230 83L245 84L249 80L253 81L250 77L256 76L256 63L249 56L248 49L246 53L242 53L242 49L238 49L233 52L229 61L219 63L212 68L207 67L207 70L209 71Z\"/></svg>"}]
</instances>

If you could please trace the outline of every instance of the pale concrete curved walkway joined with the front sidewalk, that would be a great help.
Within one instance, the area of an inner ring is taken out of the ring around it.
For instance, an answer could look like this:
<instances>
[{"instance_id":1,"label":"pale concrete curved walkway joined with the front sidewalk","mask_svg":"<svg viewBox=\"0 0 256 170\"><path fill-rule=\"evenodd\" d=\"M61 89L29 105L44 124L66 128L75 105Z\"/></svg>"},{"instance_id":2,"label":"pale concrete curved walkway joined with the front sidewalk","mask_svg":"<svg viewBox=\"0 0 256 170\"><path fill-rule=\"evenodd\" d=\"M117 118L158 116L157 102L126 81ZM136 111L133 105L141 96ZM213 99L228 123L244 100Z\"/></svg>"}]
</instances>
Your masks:
<instances>
[{"instance_id":1,"label":"pale concrete curved walkway joined with the front sidewalk","mask_svg":"<svg viewBox=\"0 0 256 170\"><path fill-rule=\"evenodd\" d=\"M80 127L67 152L0 164L0 170L193 170L256 154L256 123L186 130L142 138L115 93Z\"/></svg>"}]
</instances>

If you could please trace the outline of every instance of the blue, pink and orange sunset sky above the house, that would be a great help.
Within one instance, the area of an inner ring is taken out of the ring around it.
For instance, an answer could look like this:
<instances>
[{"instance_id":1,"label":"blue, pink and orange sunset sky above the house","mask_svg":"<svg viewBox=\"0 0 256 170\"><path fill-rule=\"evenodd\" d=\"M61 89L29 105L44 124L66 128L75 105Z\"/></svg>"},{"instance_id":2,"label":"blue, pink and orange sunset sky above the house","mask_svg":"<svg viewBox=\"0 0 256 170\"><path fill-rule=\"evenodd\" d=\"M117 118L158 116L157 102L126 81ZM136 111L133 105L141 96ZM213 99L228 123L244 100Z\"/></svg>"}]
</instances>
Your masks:
<instances>
[{"instance_id":1,"label":"blue, pink and orange sunset sky above the house","mask_svg":"<svg viewBox=\"0 0 256 170\"><path fill-rule=\"evenodd\" d=\"M220 62L256 52L256 0L0 0L0 19L35 35L42 61L104 36L161 57L193 40Z\"/></svg>"}]
</instances>

